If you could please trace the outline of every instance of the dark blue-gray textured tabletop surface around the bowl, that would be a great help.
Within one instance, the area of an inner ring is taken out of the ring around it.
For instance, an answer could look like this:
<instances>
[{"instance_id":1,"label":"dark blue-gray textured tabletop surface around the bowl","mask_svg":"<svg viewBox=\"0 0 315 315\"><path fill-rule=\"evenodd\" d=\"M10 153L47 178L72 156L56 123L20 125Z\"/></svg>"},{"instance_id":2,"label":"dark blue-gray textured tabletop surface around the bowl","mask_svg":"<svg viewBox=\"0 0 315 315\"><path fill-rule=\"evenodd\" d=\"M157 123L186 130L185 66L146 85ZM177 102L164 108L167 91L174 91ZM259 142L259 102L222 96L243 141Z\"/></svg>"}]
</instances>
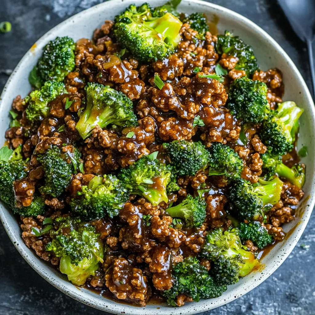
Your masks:
<instances>
[{"instance_id":1,"label":"dark blue-gray textured tabletop surface around the bowl","mask_svg":"<svg viewBox=\"0 0 315 315\"><path fill-rule=\"evenodd\" d=\"M0 90L20 58L50 28L100 0L2 0L0 21L12 31L0 34ZM289 54L310 86L307 52L274 0L216 0L253 20ZM306 246L305 246L306 245ZM315 315L315 213L289 258L263 284L240 299L204 315ZM0 315L105 314L85 306L43 280L23 260L0 226Z\"/></svg>"}]
</instances>

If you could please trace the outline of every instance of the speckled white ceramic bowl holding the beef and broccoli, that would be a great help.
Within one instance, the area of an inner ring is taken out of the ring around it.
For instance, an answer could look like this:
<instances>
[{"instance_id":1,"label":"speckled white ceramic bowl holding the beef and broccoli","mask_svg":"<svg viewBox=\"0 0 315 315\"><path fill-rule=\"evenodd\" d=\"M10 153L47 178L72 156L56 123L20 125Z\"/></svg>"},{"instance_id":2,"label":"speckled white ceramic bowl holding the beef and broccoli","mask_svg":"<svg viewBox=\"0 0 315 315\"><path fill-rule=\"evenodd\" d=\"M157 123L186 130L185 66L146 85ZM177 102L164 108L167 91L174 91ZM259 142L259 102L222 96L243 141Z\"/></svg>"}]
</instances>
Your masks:
<instances>
[{"instance_id":1,"label":"speckled white ceramic bowl holding the beef and broccoli","mask_svg":"<svg viewBox=\"0 0 315 315\"><path fill-rule=\"evenodd\" d=\"M32 49L25 54L16 66L3 89L0 99L1 137L3 137L9 125L9 109L12 100L18 94L24 97L29 92L31 86L28 83L28 74L36 64L41 54L41 49L49 40L54 39L56 36L65 35L73 37L74 40L82 37L91 38L93 30L96 27L100 27L104 20L112 19L131 3L139 5L143 2L144 0L112 0L99 4L72 16L41 37L36 45L33 45ZM157 6L163 4L165 1L152 0L148 2L151 3L152 6ZM219 17L219 31L223 32L225 29L230 30L234 32L234 34L239 35L246 43L249 43L254 49L261 69L267 70L272 67L278 67L283 72L285 84L284 100L293 100L304 108L304 113L300 119L299 147L306 145L309 148L308 156L303 159L303 162L306 163L307 170L304 186L305 197L299 206L295 220L284 226L284 231L289 232L287 237L283 242L274 246L269 254L261 260L261 268L259 268L259 271L252 272L247 277L241 278L237 284L229 286L228 290L217 299L202 300L198 303L186 303L185 306L180 308L153 304L149 304L145 308L134 307L105 299L87 289L75 287L53 266L45 263L38 258L33 251L26 247L21 238L19 224L10 211L2 205L0 206L1 221L9 237L16 249L32 268L49 283L72 298L100 310L115 314L196 314L237 299L239 296L244 295L263 282L288 257L305 229L315 202L313 197L315 193L315 161L313 155L315 126L314 103L300 72L297 70L292 60L265 31L250 20L231 10L203 1L182 0L179 11L186 13L204 12L209 18L211 18L213 14L216 14Z\"/></svg>"}]
</instances>

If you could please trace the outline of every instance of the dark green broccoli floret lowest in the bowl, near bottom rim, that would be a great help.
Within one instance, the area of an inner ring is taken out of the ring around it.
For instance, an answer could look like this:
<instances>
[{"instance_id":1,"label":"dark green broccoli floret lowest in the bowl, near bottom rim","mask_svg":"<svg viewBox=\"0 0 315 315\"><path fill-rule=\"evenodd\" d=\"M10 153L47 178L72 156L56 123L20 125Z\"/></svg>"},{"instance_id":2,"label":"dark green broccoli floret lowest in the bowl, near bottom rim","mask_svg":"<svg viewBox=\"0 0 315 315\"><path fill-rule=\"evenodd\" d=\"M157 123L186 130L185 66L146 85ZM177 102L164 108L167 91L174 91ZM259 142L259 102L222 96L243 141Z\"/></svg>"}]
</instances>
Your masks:
<instances>
[{"instance_id":1,"label":"dark green broccoli floret lowest in the bowl, near bottom rim","mask_svg":"<svg viewBox=\"0 0 315 315\"><path fill-rule=\"evenodd\" d=\"M186 294L192 297L193 301L198 302L199 299L219 297L226 291L226 286L216 284L207 269L192 256L173 267L172 282L171 289L161 292L172 306L176 306L176 296L179 294Z\"/></svg>"}]
</instances>

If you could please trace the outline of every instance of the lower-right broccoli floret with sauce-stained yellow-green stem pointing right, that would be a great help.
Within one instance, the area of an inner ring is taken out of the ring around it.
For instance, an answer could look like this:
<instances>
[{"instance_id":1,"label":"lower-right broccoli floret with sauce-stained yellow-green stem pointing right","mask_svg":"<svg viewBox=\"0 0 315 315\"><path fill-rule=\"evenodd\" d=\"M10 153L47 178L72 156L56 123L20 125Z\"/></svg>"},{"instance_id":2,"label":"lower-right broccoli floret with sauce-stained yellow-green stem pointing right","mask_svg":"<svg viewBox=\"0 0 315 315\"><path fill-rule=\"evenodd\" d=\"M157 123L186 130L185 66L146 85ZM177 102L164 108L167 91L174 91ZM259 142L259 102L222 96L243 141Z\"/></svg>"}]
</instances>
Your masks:
<instances>
[{"instance_id":1,"label":"lower-right broccoli floret with sauce-stained yellow-green stem pointing right","mask_svg":"<svg viewBox=\"0 0 315 315\"><path fill-rule=\"evenodd\" d=\"M217 283L234 284L238 277L248 275L259 264L255 255L246 249L237 228L225 232L216 228L208 232L200 255L214 262L211 274Z\"/></svg>"}]
</instances>

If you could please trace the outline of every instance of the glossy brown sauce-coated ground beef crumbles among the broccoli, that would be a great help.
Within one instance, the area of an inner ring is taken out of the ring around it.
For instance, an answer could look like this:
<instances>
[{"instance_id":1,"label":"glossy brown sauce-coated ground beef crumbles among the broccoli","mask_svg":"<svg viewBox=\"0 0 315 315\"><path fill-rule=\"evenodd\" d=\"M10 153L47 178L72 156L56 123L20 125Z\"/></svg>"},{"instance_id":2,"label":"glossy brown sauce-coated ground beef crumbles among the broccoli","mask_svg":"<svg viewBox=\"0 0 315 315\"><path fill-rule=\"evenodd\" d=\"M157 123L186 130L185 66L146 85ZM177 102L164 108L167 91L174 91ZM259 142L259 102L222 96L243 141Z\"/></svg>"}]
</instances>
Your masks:
<instances>
[{"instance_id":1,"label":"glossy brown sauce-coated ground beef crumbles among the broccoli","mask_svg":"<svg viewBox=\"0 0 315 315\"><path fill-rule=\"evenodd\" d=\"M44 217L55 218L67 213L66 203L69 198L76 196L82 186L95 175L128 167L140 157L156 151L163 141L190 140L197 137L206 147L210 147L213 142L221 142L232 146L243 159L246 165L242 173L244 179L256 183L262 173L260 156L266 152L266 146L257 135L259 126L246 130L249 139L246 147L239 145L237 140L241 124L225 107L229 84L246 73L234 69L238 62L235 58L222 54L219 59L214 49L217 41L215 35L207 32L204 40L195 40L198 32L192 30L189 24L183 24L176 53L165 60L141 64L135 58L120 61L113 55L120 48L113 43L112 26L112 21L105 21L100 29L94 31L93 41L85 38L77 41L76 69L64 80L70 93L67 97L73 101L70 108L65 110L66 97L58 96L50 104L49 117L38 128L33 128L27 125L19 95L14 99L12 107L20 112L22 127L12 127L5 133L12 148L23 145L23 154L30 158L33 167L27 180L16 181L14 184L16 196L24 206L30 204L36 181L43 177L36 154L45 152L51 144L71 150L69 146L62 147L66 139L64 134L57 131L58 128L65 123L67 139L71 139L70 142L81 141L79 149L82 152L84 174L73 176L66 188L67 197L46 199L45 204L49 210L44 216L21 217L22 237L26 245L45 261L56 266L59 258L45 251L50 237L36 237L31 232L32 227L39 228ZM217 63L228 69L228 77L224 83L209 81L193 72L197 66L205 74L214 73ZM155 73L167 81L161 90L153 84ZM256 71L253 79L267 84L267 99L271 108L275 108L281 102L284 91L281 72L276 68L266 72ZM121 133L97 126L89 138L82 140L75 126L78 120L76 112L82 106L85 95L84 82L109 85L127 95L134 101L139 125L125 128ZM196 116L203 119L203 127L193 127ZM130 131L134 132L134 136L126 138ZM292 161L292 158L288 156L287 160ZM154 207L144 198L131 196L118 217L92 221L96 232L100 234L104 244L107 244L108 253L104 257L102 268L87 280L88 287L111 292L116 299L144 306L152 291L171 288L172 266L183 258L200 252L207 230L215 227L227 229L231 226L224 210L227 202L224 186L227 183L221 176L212 176L210 182L207 170L198 171L194 176L179 177L177 183L180 190L168 196L168 203L163 202ZM207 217L203 225L198 229L181 231L170 227L172 218L166 215L164 209L170 202L186 196L187 192L197 190L201 184L210 189L205 195ZM275 235L277 241L284 238L281 225L294 219L296 205L302 197L300 188L284 183L281 200L268 213L265 223L260 218L261 223ZM144 215L152 217L150 226L140 224ZM245 245L254 253L258 250L250 240ZM201 260L201 264L210 269L208 260ZM179 306L187 301L192 299L186 295L178 295Z\"/></svg>"}]
</instances>

